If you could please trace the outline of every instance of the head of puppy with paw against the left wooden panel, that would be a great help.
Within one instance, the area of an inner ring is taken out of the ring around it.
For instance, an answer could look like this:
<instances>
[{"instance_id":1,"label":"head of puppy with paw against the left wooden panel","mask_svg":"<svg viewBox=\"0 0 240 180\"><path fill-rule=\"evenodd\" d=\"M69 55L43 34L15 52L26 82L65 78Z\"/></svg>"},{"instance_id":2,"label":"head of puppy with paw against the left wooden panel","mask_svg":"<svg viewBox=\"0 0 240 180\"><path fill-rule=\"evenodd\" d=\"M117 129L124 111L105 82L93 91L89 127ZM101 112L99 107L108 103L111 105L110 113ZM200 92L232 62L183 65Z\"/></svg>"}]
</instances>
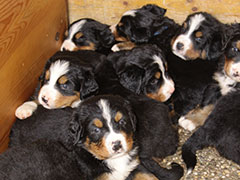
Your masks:
<instances>
[{"instance_id":1,"label":"head of puppy with paw against the left wooden panel","mask_svg":"<svg viewBox=\"0 0 240 180\"><path fill-rule=\"evenodd\" d=\"M78 57L68 58L58 55L50 58L40 77L38 101L47 109L76 107L98 89L93 68Z\"/></svg>"}]
</instances>

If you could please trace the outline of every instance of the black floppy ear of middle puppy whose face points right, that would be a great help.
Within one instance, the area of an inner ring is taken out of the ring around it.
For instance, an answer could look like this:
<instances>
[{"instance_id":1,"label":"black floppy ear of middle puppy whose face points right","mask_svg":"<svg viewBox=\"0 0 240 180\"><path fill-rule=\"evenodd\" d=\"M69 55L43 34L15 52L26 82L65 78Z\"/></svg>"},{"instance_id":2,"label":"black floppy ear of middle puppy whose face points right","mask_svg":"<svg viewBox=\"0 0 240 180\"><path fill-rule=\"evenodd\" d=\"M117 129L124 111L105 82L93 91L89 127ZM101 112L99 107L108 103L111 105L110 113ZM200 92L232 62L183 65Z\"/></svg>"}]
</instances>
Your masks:
<instances>
[{"instance_id":1,"label":"black floppy ear of middle puppy whose face points right","mask_svg":"<svg viewBox=\"0 0 240 180\"><path fill-rule=\"evenodd\" d=\"M132 64L125 67L119 74L120 83L137 94L141 93L145 70Z\"/></svg>"}]
</instances>

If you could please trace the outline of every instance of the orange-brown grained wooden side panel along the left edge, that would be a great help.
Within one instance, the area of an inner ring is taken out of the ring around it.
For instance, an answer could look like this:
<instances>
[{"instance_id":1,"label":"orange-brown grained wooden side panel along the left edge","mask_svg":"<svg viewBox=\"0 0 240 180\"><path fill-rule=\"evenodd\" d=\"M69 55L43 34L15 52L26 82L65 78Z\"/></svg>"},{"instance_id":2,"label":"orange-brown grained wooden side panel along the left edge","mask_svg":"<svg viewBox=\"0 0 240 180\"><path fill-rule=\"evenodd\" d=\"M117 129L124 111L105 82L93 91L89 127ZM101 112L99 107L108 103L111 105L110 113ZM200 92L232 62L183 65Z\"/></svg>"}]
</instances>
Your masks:
<instances>
[{"instance_id":1,"label":"orange-brown grained wooden side panel along the left edge","mask_svg":"<svg viewBox=\"0 0 240 180\"><path fill-rule=\"evenodd\" d=\"M7 147L15 109L33 93L45 61L60 48L66 27L66 0L1 1L0 152Z\"/></svg>"}]
</instances>

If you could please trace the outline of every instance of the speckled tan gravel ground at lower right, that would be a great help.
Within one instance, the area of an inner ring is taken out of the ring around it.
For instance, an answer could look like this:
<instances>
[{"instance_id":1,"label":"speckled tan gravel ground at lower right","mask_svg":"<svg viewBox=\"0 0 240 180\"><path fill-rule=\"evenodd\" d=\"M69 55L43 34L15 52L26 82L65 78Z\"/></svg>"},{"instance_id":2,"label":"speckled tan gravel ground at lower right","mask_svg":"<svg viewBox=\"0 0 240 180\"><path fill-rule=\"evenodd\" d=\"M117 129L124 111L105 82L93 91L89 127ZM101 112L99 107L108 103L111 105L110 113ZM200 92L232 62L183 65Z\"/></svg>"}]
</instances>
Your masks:
<instances>
[{"instance_id":1,"label":"speckled tan gravel ground at lower right","mask_svg":"<svg viewBox=\"0 0 240 180\"><path fill-rule=\"evenodd\" d=\"M172 162L177 162L185 169L181 180L240 180L240 166L221 157L215 148L209 147L197 152L197 165L191 174L186 176L186 167L181 158L181 146L192 133L179 128L180 144L177 152L163 159L160 164L170 167Z\"/></svg>"}]
</instances>

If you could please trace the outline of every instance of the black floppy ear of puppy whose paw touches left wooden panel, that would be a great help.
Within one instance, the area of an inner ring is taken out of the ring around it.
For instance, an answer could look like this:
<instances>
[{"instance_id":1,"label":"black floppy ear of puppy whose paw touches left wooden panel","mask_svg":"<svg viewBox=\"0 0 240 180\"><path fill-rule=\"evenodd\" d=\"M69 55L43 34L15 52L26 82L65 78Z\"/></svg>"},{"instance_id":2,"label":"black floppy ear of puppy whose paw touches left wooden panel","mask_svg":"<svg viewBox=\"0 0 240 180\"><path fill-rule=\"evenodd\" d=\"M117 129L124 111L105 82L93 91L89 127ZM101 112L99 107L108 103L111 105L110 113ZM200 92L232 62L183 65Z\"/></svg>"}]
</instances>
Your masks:
<instances>
[{"instance_id":1,"label":"black floppy ear of puppy whose paw touches left wooden panel","mask_svg":"<svg viewBox=\"0 0 240 180\"><path fill-rule=\"evenodd\" d=\"M91 71L85 71L83 74L84 80L80 88L80 98L84 99L98 90L98 84Z\"/></svg>"}]
</instances>

